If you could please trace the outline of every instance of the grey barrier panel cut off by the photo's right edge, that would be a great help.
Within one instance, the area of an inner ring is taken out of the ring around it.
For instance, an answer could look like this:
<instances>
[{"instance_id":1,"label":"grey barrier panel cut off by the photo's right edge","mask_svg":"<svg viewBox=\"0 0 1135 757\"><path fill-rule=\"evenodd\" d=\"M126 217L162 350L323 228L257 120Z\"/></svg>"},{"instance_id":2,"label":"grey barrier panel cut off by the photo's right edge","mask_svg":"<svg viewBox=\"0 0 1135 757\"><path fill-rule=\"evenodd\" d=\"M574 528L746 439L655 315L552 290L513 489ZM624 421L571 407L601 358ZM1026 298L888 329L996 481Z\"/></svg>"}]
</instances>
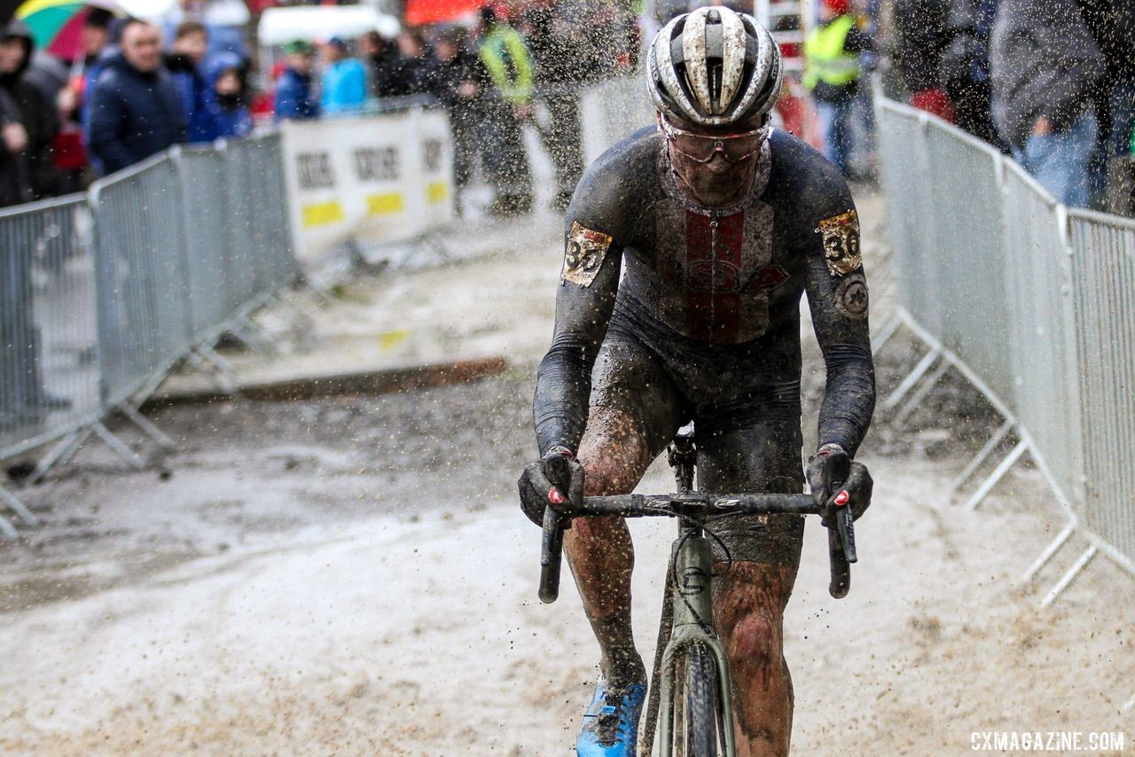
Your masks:
<instances>
[{"instance_id":1,"label":"grey barrier panel cut off by the photo's right edge","mask_svg":"<svg viewBox=\"0 0 1135 757\"><path fill-rule=\"evenodd\" d=\"M1135 221L1071 211L1087 527L1135 560Z\"/></svg>"}]
</instances>

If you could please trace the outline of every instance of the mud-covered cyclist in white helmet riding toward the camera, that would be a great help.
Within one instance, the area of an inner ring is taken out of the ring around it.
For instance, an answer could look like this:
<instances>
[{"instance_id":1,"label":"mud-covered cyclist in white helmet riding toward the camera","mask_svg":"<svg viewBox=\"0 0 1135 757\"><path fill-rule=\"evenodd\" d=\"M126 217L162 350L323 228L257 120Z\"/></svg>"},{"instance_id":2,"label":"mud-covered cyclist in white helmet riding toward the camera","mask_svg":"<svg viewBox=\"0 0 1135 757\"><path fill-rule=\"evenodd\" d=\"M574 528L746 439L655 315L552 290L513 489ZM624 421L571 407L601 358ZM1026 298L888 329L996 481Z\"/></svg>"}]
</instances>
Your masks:
<instances>
[{"instance_id":1,"label":"mud-covered cyclist in white helmet riding toward the camera","mask_svg":"<svg viewBox=\"0 0 1135 757\"><path fill-rule=\"evenodd\" d=\"M874 409L855 205L835 167L768 126L782 77L772 36L748 15L700 8L657 34L646 68L657 127L600 157L565 219L555 336L533 407L541 460L520 481L536 522L549 497L631 491L689 420L704 489L801 491L804 293L827 370L813 491L823 490L818 459L854 455ZM553 459L572 471L562 494L548 481ZM843 488L855 516L871 487L854 463ZM784 755L782 614L802 518L738 516L714 530L725 547L717 567L732 564L714 602L738 754ZM579 520L564 547L602 651L578 752L633 756L646 675L631 633L630 536L621 519Z\"/></svg>"}]
</instances>

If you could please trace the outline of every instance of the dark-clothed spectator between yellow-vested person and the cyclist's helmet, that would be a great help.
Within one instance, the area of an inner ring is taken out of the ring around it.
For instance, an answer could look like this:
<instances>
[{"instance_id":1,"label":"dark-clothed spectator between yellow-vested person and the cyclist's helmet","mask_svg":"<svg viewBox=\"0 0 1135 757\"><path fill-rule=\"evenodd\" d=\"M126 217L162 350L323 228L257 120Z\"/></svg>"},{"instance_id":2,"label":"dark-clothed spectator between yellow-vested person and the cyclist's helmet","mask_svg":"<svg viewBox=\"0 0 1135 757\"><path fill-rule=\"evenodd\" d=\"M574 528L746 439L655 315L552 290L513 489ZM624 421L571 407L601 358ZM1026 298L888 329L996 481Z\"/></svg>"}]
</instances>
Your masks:
<instances>
[{"instance_id":1,"label":"dark-clothed spectator between yellow-vested person and the cyclist's helmet","mask_svg":"<svg viewBox=\"0 0 1135 757\"><path fill-rule=\"evenodd\" d=\"M536 82L548 109L548 124L540 138L556 169L557 192L553 210L564 211L583 175L582 127L579 87L598 73L589 30L582 26L578 3L548 2L533 6L526 15L528 42L536 57Z\"/></svg>"}]
</instances>

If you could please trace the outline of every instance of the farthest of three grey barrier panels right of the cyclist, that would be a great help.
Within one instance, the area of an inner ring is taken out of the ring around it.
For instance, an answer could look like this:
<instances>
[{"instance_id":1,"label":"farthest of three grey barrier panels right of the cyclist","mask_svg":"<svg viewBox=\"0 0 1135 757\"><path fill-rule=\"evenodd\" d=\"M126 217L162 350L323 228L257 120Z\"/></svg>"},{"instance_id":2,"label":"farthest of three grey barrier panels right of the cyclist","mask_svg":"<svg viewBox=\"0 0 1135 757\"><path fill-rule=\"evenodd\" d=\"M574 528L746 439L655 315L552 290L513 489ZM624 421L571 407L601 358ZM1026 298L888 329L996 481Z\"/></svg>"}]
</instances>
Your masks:
<instances>
[{"instance_id":1,"label":"farthest of three grey barrier panels right of the cyclist","mask_svg":"<svg viewBox=\"0 0 1135 757\"><path fill-rule=\"evenodd\" d=\"M1012 360L1006 304L1001 154L960 129L933 124L926 132L935 180L935 246L931 263L942 302L942 344L999 399L1011 403ZM917 219L916 219L917 221ZM928 274L918 271L919 277Z\"/></svg>"}]
</instances>

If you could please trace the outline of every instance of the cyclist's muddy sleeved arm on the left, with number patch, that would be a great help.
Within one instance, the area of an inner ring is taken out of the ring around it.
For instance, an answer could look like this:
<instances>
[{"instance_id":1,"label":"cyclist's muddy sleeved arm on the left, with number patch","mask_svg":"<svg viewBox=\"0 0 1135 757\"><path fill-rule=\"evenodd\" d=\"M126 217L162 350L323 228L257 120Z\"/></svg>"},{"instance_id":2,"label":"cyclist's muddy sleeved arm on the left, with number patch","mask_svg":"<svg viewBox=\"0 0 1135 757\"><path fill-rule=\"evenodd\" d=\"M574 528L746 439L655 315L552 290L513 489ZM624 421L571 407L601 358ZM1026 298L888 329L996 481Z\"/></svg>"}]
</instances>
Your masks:
<instances>
[{"instance_id":1,"label":"cyclist's muddy sleeved arm on the left, with number patch","mask_svg":"<svg viewBox=\"0 0 1135 757\"><path fill-rule=\"evenodd\" d=\"M540 362L532 402L543 456L555 446L573 453L587 424L591 367L619 291L622 245L603 212L602 197L585 177L564 224L564 262L556 294L552 347Z\"/></svg>"}]
</instances>

